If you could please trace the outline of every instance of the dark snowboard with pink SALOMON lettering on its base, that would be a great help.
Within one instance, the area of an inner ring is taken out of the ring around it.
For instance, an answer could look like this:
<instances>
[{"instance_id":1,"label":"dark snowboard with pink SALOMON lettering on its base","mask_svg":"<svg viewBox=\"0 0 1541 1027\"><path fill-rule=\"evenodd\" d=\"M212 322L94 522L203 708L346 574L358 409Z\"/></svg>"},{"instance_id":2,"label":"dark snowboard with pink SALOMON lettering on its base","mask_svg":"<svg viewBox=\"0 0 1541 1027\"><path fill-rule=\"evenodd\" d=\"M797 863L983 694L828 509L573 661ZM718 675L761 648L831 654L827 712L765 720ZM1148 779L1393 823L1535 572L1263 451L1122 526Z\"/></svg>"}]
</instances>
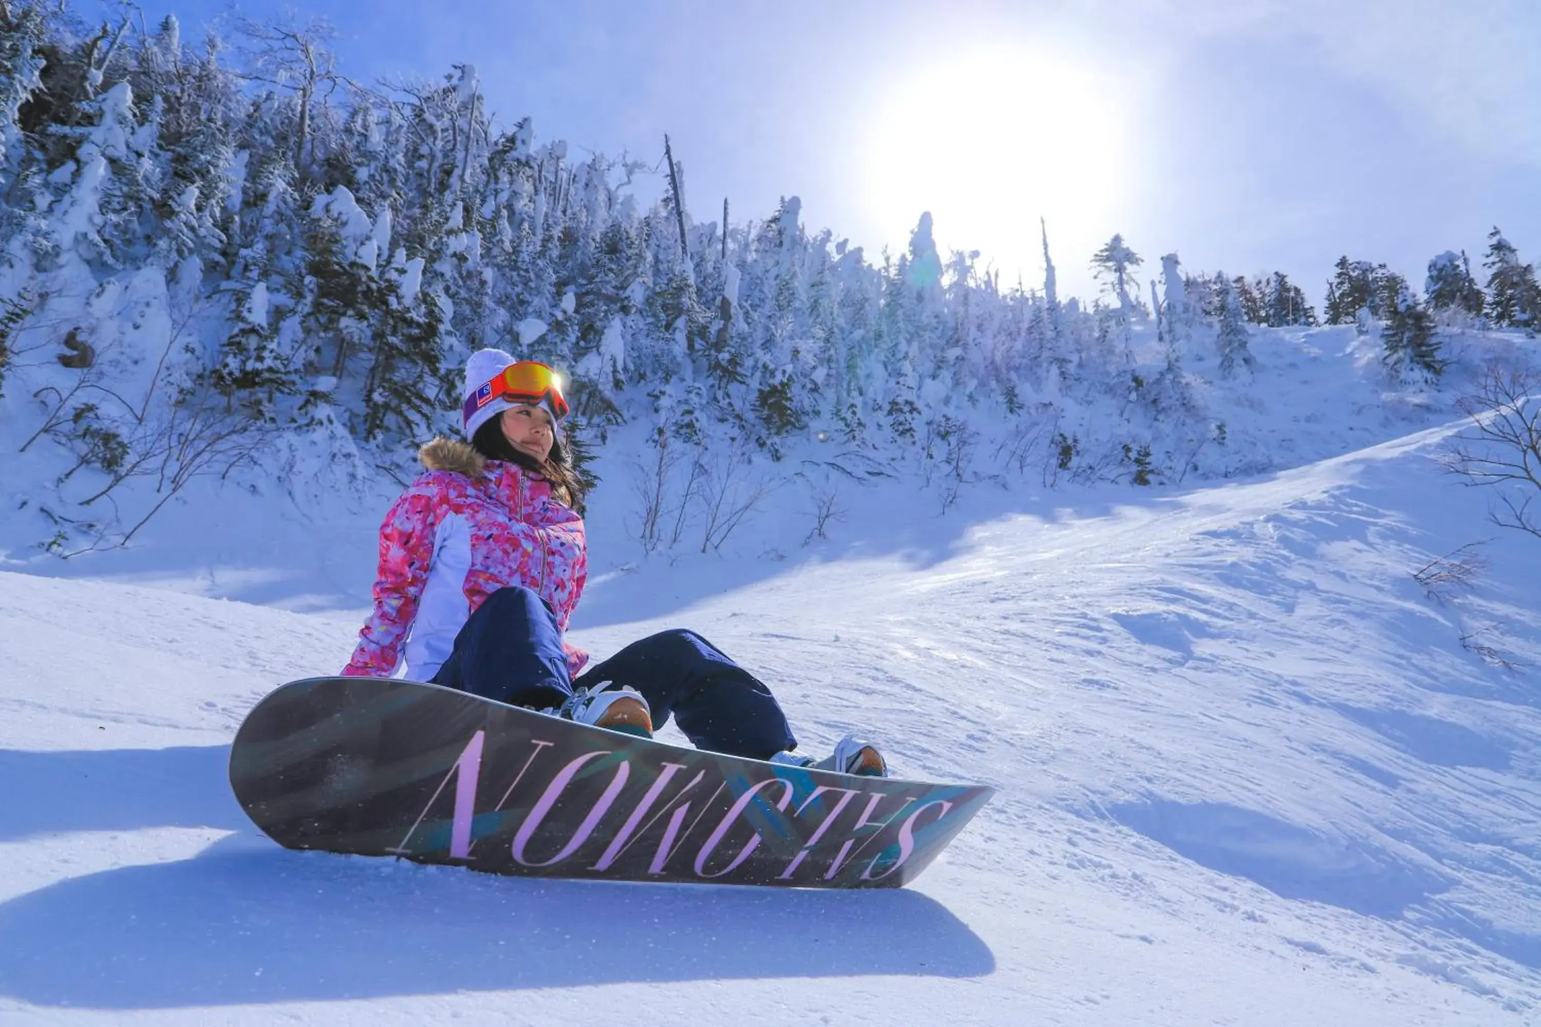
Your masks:
<instances>
[{"instance_id":1,"label":"dark snowboard with pink SALOMON lettering on its base","mask_svg":"<svg viewBox=\"0 0 1541 1027\"><path fill-rule=\"evenodd\" d=\"M381 677L268 694L236 733L230 784L288 848L811 888L914 881L994 795L723 756Z\"/></svg>"}]
</instances>

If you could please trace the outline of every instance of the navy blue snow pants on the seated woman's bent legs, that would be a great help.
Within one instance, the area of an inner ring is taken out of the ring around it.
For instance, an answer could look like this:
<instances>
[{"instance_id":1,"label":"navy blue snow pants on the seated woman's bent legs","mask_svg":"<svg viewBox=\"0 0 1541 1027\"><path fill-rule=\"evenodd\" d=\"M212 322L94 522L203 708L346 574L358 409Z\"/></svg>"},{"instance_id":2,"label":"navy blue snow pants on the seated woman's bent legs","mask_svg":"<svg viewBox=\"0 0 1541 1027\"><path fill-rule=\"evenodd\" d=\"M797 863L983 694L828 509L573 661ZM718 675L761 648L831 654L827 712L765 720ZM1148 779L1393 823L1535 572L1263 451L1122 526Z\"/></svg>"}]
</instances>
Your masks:
<instances>
[{"instance_id":1,"label":"navy blue snow pants on the seated woman's bent legs","mask_svg":"<svg viewBox=\"0 0 1541 1027\"><path fill-rule=\"evenodd\" d=\"M556 616L529 588L488 596L433 681L536 708L561 705L575 687L609 682L640 691L655 728L673 716L697 748L766 759L797 747L770 690L695 631L650 634L572 681Z\"/></svg>"}]
</instances>

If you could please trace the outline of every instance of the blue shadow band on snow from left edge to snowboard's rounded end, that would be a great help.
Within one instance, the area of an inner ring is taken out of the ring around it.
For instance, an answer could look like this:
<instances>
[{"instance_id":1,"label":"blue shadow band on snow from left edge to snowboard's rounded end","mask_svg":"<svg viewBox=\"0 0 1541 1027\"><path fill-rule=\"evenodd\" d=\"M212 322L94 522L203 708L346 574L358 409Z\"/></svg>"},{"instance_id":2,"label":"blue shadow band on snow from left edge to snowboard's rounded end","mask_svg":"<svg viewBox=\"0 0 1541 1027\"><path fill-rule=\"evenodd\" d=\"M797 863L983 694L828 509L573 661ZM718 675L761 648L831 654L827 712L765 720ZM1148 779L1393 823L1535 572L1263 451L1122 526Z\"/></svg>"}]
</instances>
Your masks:
<instances>
[{"instance_id":1,"label":"blue shadow band on snow from left edge to snowboard's rounded end","mask_svg":"<svg viewBox=\"0 0 1541 1027\"><path fill-rule=\"evenodd\" d=\"M0 748L0 842L60 831L248 824L230 791L230 745Z\"/></svg>"}]
</instances>

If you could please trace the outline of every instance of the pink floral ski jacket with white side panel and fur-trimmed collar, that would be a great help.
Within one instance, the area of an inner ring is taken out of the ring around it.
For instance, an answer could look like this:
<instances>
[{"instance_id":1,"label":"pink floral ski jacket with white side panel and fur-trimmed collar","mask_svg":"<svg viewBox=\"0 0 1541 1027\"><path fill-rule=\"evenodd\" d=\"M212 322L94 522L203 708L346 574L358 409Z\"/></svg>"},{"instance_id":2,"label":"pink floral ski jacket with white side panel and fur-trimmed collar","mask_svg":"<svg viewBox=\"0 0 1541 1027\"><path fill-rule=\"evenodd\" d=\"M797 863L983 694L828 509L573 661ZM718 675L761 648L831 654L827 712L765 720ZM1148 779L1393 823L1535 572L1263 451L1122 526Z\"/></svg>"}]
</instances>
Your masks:
<instances>
[{"instance_id":1,"label":"pink floral ski jacket with white side panel and fur-trimmed collar","mask_svg":"<svg viewBox=\"0 0 1541 1027\"><path fill-rule=\"evenodd\" d=\"M381 525L374 610L344 674L388 677L404 657L405 676L428 681L472 611L507 585L533 588L562 631L582 596L582 517L553 499L542 477L450 439L419 456L427 473ZM562 647L576 674L589 654Z\"/></svg>"}]
</instances>

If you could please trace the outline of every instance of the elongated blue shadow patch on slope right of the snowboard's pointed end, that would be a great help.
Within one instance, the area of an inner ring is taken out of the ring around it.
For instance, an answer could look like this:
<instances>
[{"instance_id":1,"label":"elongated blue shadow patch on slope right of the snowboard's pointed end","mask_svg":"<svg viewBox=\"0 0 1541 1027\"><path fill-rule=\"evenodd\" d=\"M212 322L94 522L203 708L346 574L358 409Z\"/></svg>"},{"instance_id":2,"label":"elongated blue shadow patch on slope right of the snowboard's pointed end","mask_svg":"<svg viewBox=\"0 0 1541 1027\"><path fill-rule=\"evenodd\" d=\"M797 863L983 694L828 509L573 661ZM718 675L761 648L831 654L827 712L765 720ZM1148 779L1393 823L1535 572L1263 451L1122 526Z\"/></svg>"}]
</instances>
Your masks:
<instances>
[{"instance_id":1,"label":"elongated blue shadow patch on slope right of the snowboard's pointed end","mask_svg":"<svg viewBox=\"0 0 1541 1027\"><path fill-rule=\"evenodd\" d=\"M1364 842L1324 838L1304 827L1225 802L1125 802L1113 819L1179 856L1261 884L1285 899L1338 905L1396 919L1449 882Z\"/></svg>"}]
</instances>

